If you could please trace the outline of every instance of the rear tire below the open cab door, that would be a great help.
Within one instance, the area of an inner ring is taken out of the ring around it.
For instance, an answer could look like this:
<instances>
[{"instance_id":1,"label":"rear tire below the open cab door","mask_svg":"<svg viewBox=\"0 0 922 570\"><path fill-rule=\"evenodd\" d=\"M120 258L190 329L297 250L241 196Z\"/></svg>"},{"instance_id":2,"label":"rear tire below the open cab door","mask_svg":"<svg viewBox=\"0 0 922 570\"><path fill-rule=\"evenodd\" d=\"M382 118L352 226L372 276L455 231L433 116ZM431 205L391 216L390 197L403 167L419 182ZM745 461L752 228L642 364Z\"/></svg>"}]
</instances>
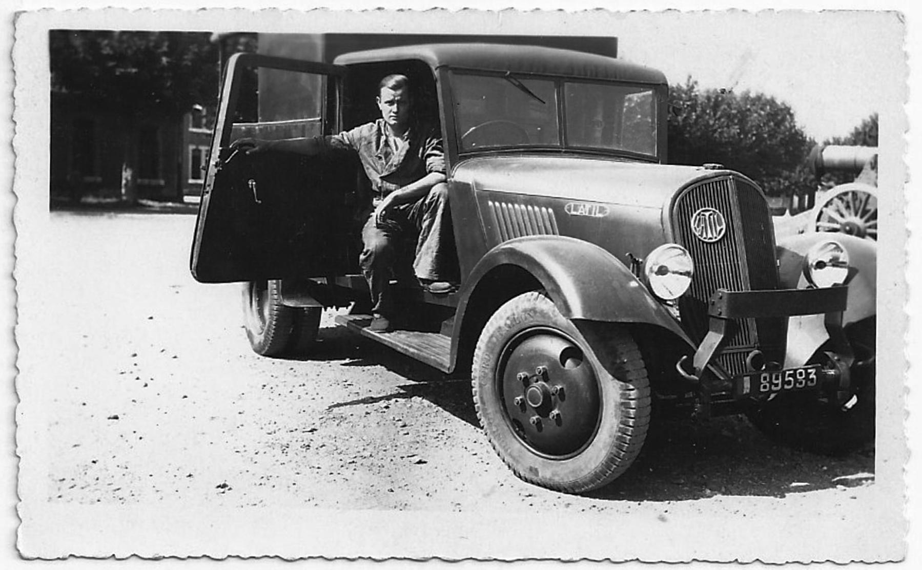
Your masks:
<instances>
[{"instance_id":1,"label":"rear tire below the open cab door","mask_svg":"<svg viewBox=\"0 0 922 570\"><path fill-rule=\"evenodd\" d=\"M281 281L251 281L243 287L243 328L254 353L281 356L306 351L320 326L319 307L286 307Z\"/></svg>"}]
</instances>

